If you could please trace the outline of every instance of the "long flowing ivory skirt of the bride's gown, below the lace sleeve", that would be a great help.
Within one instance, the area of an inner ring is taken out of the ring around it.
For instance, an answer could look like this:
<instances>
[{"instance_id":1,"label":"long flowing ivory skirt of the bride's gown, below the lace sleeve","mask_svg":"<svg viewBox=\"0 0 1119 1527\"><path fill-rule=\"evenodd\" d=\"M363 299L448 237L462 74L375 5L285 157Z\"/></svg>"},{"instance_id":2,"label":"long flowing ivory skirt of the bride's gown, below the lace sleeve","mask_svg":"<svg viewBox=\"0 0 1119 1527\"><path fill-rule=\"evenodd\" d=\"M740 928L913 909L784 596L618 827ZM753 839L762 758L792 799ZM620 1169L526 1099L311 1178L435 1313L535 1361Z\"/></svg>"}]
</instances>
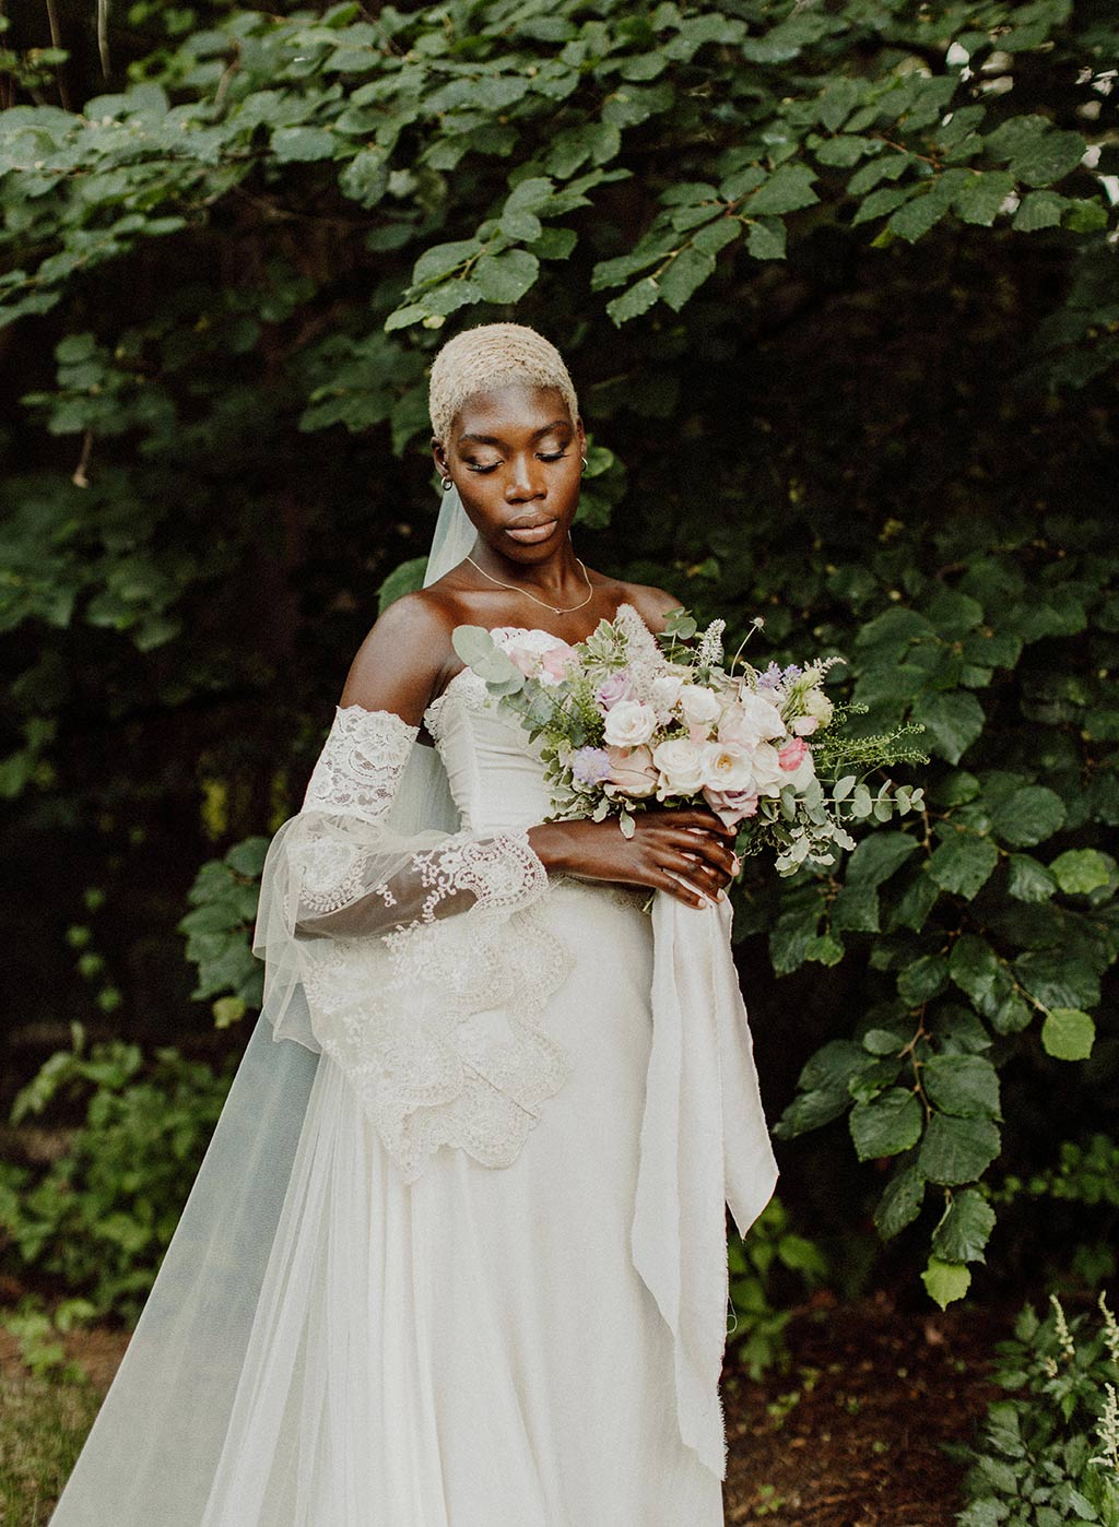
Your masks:
<instances>
[{"instance_id":1,"label":"long flowing ivory skirt of the bride's gown, below the lace sleeve","mask_svg":"<svg viewBox=\"0 0 1119 1527\"><path fill-rule=\"evenodd\" d=\"M549 898L572 1072L512 1167L405 1185L319 1061L200 1527L715 1527L671 1333L630 1251L653 938L639 898Z\"/></svg>"}]
</instances>

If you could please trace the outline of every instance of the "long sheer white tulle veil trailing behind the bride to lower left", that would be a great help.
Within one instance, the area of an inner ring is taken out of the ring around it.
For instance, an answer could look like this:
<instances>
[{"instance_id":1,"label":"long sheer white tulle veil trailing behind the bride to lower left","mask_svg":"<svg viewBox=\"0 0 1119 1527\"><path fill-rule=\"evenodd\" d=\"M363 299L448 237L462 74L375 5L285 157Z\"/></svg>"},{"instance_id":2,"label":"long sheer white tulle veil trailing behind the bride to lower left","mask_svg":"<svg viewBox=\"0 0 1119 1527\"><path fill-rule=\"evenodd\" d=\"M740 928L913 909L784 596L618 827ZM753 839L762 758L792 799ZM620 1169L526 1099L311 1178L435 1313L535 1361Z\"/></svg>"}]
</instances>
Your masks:
<instances>
[{"instance_id":1,"label":"long sheer white tulle veil trailing behind the bride to lower left","mask_svg":"<svg viewBox=\"0 0 1119 1527\"><path fill-rule=\"evenodd\" d=\"M474 539L451 486L425 586L456 567ZM401 832L457 828L434 748L413 750L390 822ZM323 1061L310 1023L292 1022L300 1002L306 1008L300 989L266 980L263 1009L194 1186L50 1527L202 1521ZM289 1037L274 1031L280 1012Z\"/></svg>"}]
</instances>

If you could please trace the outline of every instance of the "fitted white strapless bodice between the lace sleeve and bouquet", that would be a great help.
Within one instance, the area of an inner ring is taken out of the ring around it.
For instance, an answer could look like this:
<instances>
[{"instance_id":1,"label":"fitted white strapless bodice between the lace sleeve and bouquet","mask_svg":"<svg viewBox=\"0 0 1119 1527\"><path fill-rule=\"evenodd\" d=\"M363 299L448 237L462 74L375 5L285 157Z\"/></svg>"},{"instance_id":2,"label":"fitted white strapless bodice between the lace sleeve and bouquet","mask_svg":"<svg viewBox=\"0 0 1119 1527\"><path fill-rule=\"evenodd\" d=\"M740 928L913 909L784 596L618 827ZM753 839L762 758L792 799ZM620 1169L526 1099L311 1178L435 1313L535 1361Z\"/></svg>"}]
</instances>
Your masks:
<instances>
[{"instance_id":1,"label":"fitted white strapless bodice between the lace sleeve and bouquet","mask_svg":"<svg viewBox=\"0 0 1119 1527\"><path fill-rule=\"evenodd\" d=\"M535 826L552 811L544 764L517 716L471 669L456 673L423 722L439 748L462 825L482 835Z\"/></svg>"}]
</instances>

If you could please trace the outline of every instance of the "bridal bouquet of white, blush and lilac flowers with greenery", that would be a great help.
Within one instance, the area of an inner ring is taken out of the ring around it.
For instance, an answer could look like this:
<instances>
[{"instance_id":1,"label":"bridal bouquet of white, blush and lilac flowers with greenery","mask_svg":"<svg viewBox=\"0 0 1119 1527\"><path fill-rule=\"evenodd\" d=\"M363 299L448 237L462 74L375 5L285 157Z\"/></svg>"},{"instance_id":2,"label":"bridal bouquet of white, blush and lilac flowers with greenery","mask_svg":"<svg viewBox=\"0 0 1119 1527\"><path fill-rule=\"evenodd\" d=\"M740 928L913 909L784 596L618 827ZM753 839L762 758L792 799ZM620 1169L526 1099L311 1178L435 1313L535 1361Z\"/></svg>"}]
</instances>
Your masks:
<instances>
[{"instance_id":1,"label":"bridal bouquet of white, blush and lilac flowers with greenery","mask_svg":"<svg viewBox=\"0 0 1119 1527\"><path fill-rule=\"evenodd\" d=\"M752 628L761 625L758 617ZM884 764L928 762L907 742L920 725L845 738L842 719L867 707L824 693L842 658L758 670L740 664L740 646L725 666L725 628L714 620L699 634L679 609L654 638L624 605L575 644L512 626L459 626L452 641L489 693L543 739L552 820L613 814L628 837L633 812L654 802L705 805L738 828L740 852L769 847L777 872L792 875L806 860L832 864L836 847L853 849L847 823L922 806L920 788L885 780L871 794L862 779Z\"/></svg>"}]
</instances>

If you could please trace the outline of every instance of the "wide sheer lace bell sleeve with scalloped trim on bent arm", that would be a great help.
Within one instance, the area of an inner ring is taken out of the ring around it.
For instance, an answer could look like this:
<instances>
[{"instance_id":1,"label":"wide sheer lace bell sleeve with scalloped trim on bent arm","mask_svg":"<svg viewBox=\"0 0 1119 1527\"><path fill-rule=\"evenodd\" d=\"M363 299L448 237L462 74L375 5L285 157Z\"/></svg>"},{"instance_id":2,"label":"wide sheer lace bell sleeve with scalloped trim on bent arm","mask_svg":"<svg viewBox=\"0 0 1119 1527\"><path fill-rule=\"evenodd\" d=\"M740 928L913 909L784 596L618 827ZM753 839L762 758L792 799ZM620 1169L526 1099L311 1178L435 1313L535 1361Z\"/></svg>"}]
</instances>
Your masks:
<instances>
[{"instance_id":1,"label":"wide sheer lace bell sleeve with scalloped trim on bent arm","mask_svg":"<svg viewBox=\"0 0 1119 1527\"><path fill-rule=\"evenodd\" d=\"M440 1145L509 1165L569 1069L540 1023L569 968L544 866L523 832L399 829L417 733L336 707L269 844L252 942L275 1037L342 1066L405 1180Z\"/></svg>"}]
</instances>

